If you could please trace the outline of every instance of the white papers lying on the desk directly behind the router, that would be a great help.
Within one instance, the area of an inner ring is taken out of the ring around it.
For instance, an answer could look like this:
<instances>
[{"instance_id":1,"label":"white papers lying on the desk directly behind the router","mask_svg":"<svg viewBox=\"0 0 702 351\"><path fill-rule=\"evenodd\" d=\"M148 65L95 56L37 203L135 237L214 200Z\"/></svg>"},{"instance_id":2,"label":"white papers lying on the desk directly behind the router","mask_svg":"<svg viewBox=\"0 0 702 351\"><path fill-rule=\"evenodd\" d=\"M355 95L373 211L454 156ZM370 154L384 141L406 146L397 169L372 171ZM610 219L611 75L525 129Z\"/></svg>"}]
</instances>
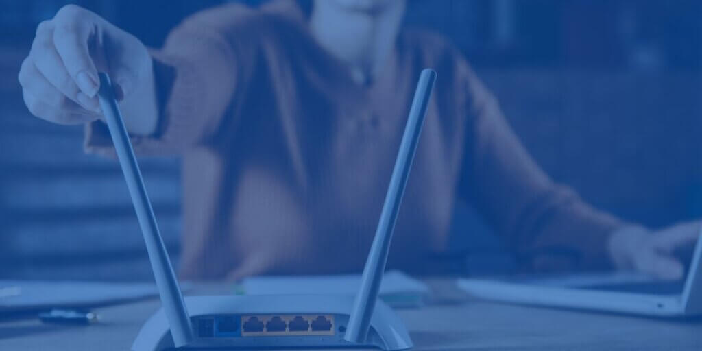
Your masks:
<instances>
[{"instance_id":1,"label":"white papers lying on the desk directly behind the router","mask_svg":"<svg viewBox=\"0 0 702 351\"><path fill-rule=\"evenodd\" d=\"M243 292L249 295L355 295L361 284L360 274L260 276L244 279ZM393 307L418 307L429 288L403 272L385 272L380 284L380 298Z\"/></svg>"}]
</instances>

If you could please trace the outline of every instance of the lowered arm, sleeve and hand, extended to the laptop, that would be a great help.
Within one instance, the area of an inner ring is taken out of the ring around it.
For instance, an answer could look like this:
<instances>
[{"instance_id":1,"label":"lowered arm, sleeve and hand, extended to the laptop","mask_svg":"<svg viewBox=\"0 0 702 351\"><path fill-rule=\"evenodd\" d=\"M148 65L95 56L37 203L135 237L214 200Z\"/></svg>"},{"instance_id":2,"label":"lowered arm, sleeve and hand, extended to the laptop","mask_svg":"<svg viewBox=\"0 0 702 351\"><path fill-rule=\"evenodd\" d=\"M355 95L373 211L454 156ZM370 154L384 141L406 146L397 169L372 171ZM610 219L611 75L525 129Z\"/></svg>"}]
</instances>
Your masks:
<instances>
[{"instance_id":1,"label":"lowered arm, sleeve and hand, extended to the laptop","mask_svg":"<svg viewBox=\"0 0 702 351\"><path fill-rule=\"evenodd\" d=\"M462 194L531 270L616 268L682 279L701 223L651 232L585 204L538 168L495 98L466 69L469 128Z\"/></svg>"}]
</instances>

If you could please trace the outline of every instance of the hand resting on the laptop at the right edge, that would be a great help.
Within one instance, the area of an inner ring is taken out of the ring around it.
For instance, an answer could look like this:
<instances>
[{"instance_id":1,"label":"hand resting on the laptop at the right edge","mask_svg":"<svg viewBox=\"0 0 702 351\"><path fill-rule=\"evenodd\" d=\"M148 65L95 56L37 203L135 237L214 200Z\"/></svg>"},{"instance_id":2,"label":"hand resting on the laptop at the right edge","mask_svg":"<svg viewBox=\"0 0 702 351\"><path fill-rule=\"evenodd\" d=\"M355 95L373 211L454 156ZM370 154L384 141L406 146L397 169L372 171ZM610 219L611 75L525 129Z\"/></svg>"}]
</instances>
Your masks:
<instances>
[{"instance_id":1,"label":"hand resting on the laptop at the right edge","mask_svg":"<svg viewBox=\"0 0 702 351\"><path fill-rule=\"evenodd\" d=\"M675 251L691 249L700 234L700 222L688 222L649 232L625 227L612 234L609 252L619 269L637 270L661 279L682 279L684 263Z\"/></svg>"}]
</instances>

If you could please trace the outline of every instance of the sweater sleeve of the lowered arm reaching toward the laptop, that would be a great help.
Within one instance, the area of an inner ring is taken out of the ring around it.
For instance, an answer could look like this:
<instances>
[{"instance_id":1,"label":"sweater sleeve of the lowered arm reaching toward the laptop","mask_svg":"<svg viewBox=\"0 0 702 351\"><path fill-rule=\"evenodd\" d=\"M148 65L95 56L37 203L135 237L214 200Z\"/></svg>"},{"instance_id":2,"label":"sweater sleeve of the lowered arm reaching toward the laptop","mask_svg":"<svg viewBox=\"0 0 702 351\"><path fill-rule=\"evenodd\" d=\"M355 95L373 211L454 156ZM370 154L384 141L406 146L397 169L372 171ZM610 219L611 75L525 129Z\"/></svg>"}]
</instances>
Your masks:
<instances>
[{"instance_id":1,"label":"sweater sleeve of the lowered arm reaching toward the laptop","mask_svg":"<svg viewBox=\"0 0 702 351\"><path fill-rule=\"evenodd\" d=\"M494 96L466 71L470 98L462 194L505 237L520 269L611 268L607 241L624 224L553 183L519 142Z\"/></svg>"}]
</instances>

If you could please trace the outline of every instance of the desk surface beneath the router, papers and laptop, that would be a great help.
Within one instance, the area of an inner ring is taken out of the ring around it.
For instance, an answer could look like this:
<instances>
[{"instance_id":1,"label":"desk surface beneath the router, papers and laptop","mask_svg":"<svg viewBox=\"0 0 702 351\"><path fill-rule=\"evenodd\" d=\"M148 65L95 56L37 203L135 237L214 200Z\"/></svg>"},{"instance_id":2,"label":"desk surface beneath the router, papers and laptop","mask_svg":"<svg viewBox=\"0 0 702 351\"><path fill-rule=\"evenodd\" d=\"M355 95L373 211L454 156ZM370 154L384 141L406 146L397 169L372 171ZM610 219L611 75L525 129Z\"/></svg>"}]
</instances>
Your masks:
<instances>
[{"instance_id":1,"label":"desk surface beneath the router, papers and laptop","mask_svg":"<svg viewBox=\"0 0 702 351\"><path fill-rule=\"evenodd\" d=\"M428 279L436 302L399 310L415 350L702 350L702 319L646 319L474 300L452 279ZM207 286L200 292L222 291ZM128 350L158 300L96 309L93 326L0 322L0 350Z\"/></svg>"}]
</instances>

